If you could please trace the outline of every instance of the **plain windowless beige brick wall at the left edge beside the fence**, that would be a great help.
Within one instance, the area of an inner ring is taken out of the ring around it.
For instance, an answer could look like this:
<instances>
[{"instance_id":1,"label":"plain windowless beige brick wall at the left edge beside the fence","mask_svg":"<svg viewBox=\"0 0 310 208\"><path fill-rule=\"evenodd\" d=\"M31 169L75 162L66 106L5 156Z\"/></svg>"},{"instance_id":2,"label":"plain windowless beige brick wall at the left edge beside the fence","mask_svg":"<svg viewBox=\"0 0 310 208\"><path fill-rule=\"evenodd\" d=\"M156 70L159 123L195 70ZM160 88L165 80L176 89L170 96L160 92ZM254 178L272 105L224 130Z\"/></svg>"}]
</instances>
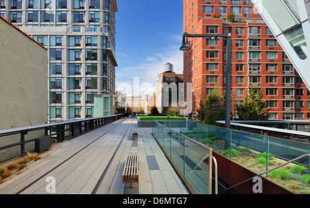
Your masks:
<instances>
[{"instance_id":1,"label":"plain windowless beige brick wall at the left edge beside the fence","mask_svg":"<svg viewBox=\"0 0 310 208\"><path fill-rule=\"evenodd\" d=\"M0 129L48 123L48 55L0 16Z\"/></svg>"}]
</instances>

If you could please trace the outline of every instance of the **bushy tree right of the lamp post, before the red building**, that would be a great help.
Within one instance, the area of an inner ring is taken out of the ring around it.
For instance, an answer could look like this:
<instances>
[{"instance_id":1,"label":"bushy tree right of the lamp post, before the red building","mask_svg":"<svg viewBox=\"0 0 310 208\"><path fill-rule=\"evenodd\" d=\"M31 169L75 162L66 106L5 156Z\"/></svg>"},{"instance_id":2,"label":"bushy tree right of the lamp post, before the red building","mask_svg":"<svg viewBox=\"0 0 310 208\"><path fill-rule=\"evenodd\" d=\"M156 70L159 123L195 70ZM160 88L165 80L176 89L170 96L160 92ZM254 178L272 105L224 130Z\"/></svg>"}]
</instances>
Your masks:
<instances>
[{"instance_id":1,"label":"bushy tree right of the lamp post, before the red building","mask_svg":"<svg viewBox=\"0 0 310 208\"><path fill-rule=\"evenodd\" d=\"M262 90L256 92L251 86L242 104L236 105L238 120L266 121L269 118L267 109L269 101L262 101Z\"/></svg>"}]
</instances>

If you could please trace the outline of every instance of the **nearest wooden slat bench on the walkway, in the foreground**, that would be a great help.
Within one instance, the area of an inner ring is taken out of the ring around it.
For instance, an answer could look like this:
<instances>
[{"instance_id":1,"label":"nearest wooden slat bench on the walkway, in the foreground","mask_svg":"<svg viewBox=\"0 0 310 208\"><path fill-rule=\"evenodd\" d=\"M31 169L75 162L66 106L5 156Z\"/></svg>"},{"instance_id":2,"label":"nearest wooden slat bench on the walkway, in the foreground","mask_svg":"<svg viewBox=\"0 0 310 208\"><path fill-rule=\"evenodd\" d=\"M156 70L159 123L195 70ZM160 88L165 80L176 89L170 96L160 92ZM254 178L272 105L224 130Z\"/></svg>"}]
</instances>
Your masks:
<instances>
[{"instance_id":1,"label":"nearest wooden slat bench on the walkway, in the foreground","mask_svg":"<svg viewBox=\"0 0 310 208\"><path fill-rule=\"evenodd\" d=\"M123 183L130 183L130 188L133 188L133 183L138 183L138 152L129 152L124 171Z\"/></svg>"}]
</instances>

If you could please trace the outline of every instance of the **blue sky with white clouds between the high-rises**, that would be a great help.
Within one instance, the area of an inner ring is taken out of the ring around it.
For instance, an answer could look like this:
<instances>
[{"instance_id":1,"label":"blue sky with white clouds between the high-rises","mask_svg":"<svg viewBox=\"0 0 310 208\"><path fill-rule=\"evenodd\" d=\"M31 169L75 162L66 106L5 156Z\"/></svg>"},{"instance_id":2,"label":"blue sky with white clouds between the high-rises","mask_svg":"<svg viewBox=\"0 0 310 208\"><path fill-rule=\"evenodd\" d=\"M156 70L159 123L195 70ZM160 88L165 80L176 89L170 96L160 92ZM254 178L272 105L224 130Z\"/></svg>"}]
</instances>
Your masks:
<instances>
[{"instance_id":1,"label":"blue sky with white clouds between the high-rises","mask_svg":"<svg viewBox=\"0 0 310 208\"><path fill-rule=\"evenodd\" d=\"M183 1L117 0L117 5L116 90L134 94L124 86L133 88L138 77L140 94L150 94L165 63L182 70Z\"/></svg>"}]
</instances>

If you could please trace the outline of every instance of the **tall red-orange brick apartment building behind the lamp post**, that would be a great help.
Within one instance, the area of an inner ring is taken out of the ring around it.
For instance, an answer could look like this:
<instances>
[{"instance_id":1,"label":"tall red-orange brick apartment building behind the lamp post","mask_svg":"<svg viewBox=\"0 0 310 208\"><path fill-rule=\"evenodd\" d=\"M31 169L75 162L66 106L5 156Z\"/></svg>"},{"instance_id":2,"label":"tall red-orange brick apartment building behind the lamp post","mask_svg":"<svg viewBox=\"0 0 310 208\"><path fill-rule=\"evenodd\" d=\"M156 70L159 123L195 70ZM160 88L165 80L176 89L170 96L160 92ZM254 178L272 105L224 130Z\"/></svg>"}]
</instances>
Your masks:
<instances>
[{"instance_id":1,"label":"tall red-orange brick apartment building behind the lamp post","mask_svg":"<svg viewBox=\"0 0 310 208\"><path fill-rule=\"evenodd\" d=\"M234 12L235 21L227 17ZM231 106L241 103L250 85L271 100L270 118L310 118L310 94L251 0L183 0L184 32L231 33ZM216 15L217 17L215 17ZM193 114L199 90L225 90L225 39L188 38L184 83L193 86ZM201 93L200 93L201 94ZM195 107L196 106L196 107Z\"/></svg>"}]
</instances>

